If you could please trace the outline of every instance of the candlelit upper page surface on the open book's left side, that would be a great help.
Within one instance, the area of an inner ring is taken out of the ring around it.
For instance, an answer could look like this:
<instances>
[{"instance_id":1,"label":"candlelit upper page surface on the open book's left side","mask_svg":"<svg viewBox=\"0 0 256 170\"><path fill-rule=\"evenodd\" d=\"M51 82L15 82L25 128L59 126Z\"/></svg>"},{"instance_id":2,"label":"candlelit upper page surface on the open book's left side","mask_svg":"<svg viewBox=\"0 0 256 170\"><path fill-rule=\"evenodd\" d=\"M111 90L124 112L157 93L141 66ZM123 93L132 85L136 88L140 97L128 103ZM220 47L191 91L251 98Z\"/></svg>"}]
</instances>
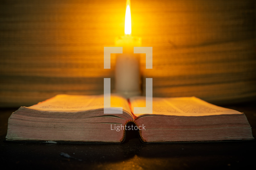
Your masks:
<instances>
[{"instance_id":1,"label":"candlelit upper page surface on the open book's left side","mask_svg":"<svg viewBox=\"0 0 256 170\"><path fill-rule=\"evenodd\" d=\"M111 107L123 107L123 110L132 116L129 104L125 98L111 94L110 102ZM56 95L27 108L52 112L95 110L104 108L104 95Z\"/></svg>"}]
</instances>

